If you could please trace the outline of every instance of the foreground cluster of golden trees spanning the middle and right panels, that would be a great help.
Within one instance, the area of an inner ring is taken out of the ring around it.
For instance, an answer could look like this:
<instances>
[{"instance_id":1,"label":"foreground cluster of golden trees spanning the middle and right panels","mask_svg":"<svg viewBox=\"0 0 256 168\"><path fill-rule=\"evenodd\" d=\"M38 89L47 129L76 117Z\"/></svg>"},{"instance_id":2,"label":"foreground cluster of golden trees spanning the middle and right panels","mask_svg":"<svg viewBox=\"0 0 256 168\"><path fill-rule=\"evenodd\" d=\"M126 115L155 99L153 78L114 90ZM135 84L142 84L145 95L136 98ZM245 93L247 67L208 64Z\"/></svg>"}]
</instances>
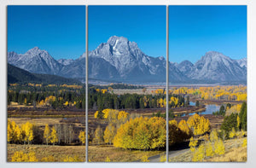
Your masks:
<instances>
[{"instance_id":1,"label":"foreground cluster of golden trees spanning the middle and right panels","mask_svg":"<svg viewBox=\"0 0 256 168\"><path fill-rule=\"evenodd\" d=\"M91 142L97 145L102 143L113 144L117 148L125 149L160 149L166 147L166 119L162 117L131 117L125 111L104 109L102 118L108 126L103 128L98 125ZM195 114L187 121L179 123L175 119L169 121L169 145L189 140L191 136L204 135L210 132L210 122L203 116Z\"/></svg>"}]
</instances>

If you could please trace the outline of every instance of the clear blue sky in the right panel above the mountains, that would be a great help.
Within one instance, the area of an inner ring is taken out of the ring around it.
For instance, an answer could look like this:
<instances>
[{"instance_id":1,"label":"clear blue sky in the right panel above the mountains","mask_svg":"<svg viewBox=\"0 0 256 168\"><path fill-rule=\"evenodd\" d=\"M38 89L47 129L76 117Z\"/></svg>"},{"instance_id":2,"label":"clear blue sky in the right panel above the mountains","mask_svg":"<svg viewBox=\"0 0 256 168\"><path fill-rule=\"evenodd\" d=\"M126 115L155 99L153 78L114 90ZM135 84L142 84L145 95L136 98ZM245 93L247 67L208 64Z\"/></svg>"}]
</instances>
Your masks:
<instances>
[{"instance_id":1,"label":"clear blue sky in the right panel above the mountains","mask_svg":"<svg viewBox=\"0 0 256 168\"><path fill-rule=\"evenodd\" d=\"M195 63L214 50L247 57L246 6L170 6L169 61Z\"/></svg>"}]
</instances>

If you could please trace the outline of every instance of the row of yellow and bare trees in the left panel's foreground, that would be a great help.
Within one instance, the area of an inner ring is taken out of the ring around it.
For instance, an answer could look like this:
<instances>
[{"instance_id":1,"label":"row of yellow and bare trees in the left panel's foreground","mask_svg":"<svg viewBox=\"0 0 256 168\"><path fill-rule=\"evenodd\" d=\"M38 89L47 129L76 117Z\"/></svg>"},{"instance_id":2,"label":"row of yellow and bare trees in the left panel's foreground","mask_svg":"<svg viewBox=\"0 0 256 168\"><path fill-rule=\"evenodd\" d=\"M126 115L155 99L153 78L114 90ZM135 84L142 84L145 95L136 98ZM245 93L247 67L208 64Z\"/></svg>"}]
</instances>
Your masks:
<instances>
[{"instance_id":1,"label":"row of yellow and bare trees in the left panel's foreground","mask_svg":"<svg viewBox=\"0 0 256 168\"><path fill-rule=\"evenodd\" d=\"M80 130L78 136L73 125L55 124L49 127L46 124L42 129L30 122L19 126L15 121L8 119L7 142L9 143L67 145L78 141L85 143L85 133L84 130Z\"/></svg>"}]
</instances>

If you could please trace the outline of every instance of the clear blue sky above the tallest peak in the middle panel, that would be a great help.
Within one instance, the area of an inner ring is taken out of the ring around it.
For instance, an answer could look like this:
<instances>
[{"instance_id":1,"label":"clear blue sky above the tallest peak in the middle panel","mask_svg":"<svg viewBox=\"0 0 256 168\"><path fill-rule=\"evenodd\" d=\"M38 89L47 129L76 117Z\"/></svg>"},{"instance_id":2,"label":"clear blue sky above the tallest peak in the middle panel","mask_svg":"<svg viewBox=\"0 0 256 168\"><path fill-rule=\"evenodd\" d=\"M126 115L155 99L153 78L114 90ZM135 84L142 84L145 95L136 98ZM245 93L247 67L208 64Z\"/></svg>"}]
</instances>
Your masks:
<instances>
[{"instance_id":1,"label":"clear blue sky above the tallest peak in the middle panel","mask_svg":"<svg viewBox=\"0 0 256 168\"><path fill-rule=\"evenodd\" d=\"M166 6L89 6L88 17L89 50L115 35L146 55L166 57Z\"/></svg>"}]
</instances>

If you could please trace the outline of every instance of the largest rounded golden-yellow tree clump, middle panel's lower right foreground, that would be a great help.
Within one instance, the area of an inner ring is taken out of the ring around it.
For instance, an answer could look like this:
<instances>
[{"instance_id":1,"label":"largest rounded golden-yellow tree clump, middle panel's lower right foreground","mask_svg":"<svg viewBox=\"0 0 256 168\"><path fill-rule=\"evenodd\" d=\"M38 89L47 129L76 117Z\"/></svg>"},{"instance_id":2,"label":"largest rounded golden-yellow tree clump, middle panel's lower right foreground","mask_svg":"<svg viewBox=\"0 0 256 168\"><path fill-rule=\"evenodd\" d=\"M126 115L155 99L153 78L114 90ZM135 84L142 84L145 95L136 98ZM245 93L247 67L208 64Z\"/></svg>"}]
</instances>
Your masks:
<instances>
[{"instance_id":1,"label":"largest rounded golden-yellow tree clump, middle panel's lower right foreground","mask_svg":"<svg viewBox=\"0 0 256 168\"><path fill-rule=\"evenodd\" d=\"M153 149L165 145L166 120L157 117L130 119L113 138L113 146L117 148Z\"/></svg>"}]
</instances>

